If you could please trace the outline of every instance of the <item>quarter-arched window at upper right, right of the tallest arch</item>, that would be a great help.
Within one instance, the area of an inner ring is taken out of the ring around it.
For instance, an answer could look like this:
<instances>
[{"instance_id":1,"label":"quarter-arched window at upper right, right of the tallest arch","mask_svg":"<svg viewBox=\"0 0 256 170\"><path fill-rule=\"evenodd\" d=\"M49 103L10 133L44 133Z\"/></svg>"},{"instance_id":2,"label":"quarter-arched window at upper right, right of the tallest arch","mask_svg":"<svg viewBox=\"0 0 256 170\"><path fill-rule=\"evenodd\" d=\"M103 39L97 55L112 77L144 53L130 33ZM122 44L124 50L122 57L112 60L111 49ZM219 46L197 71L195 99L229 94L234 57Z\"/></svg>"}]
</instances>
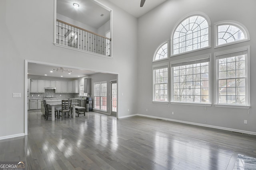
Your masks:
<instances>
[{"instance_id":1,"label":"quarter-arched window at upper right, right of the tallest arch","mask_svg":"<svg viewBox=\"0 0 256 170\"><path fill-rule=\"evenodd\" d=\"M216 34L215 47L249 40L249 33L246 27L236 21L214 23L214 29Z\"/></svg>"}]
</instances>

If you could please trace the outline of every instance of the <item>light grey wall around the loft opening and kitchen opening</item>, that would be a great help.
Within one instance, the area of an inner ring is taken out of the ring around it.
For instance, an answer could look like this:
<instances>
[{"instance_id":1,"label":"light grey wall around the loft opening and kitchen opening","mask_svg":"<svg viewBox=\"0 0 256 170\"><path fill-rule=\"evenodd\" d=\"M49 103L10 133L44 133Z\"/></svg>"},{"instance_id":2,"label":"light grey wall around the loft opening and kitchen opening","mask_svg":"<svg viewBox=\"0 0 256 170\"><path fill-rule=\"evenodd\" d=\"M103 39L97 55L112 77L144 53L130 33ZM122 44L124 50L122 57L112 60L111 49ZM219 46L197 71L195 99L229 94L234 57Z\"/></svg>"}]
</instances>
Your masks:
<instances>
[{"instance_id":1,"label":"light grey wall around the loft opening and kitchen opening","mask_svg":"<svg viewBox=\"0 0 256 170\"><path fill-rule=\"evenodd\" d=\"M0 139L25 132L25 60L118 73L119 92L124 94L119 115L136 113L137 19L107 0L100 2L113 10L113 59L55 46L54 1L0 1ZM14 92L22 97L12 98Z\"/></svg>"}]
</instances>

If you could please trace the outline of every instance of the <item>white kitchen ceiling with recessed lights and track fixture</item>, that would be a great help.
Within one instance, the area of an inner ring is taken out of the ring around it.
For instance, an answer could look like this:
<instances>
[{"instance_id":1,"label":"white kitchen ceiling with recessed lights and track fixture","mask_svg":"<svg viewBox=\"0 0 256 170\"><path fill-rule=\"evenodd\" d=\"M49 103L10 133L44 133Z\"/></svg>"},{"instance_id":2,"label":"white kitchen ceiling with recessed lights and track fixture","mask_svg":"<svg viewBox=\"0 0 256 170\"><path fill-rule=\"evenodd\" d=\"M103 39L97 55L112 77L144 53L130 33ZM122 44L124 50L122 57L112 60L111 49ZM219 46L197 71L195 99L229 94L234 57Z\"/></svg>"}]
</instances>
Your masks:
<instances>
[{"instance_id":1,"label":"white kitchen ceiling with recessed lights and track fixture","mask_svg":"<svg viewBox=\"0 0 256 170\"><path fill-rule=\"evenodd\" d=\"M28 75L45 76L44 74L47 74L47 76L49 77L61 78L61 76L63 76L62 78L79 78L79 77L84 77L86 75L91 75L96 73L94 71L63 67L65 70L72 71L71 74L68 74L68 72L58 72L53 70L56 68L60 68L60 67L50 66L45 64L28 63ZM53 72L50 72L50 71L53 71Z\"/></svg>"}]
</instances>

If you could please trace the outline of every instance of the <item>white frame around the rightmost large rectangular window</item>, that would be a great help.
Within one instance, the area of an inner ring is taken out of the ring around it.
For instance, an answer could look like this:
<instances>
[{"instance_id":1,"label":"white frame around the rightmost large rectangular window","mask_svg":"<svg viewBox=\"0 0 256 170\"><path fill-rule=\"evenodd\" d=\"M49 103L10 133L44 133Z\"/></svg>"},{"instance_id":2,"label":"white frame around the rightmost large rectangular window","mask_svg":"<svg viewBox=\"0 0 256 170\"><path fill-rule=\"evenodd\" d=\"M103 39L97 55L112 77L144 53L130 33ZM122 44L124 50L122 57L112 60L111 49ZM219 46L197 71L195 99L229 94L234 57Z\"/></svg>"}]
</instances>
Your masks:
<instances>
[{"instance_id":1,"label":"white frame around the rightmost large rectangular window","mask_svg":"<svg viewBox=\"0 0 256 170\"><path fill-rule=\"evenodd\" d=\"M245 78L245 93L246 95L246 104L245 105L237 105L237 104L219 104L218 103L218 65L217 59L218 56L221 55L232 55L232 53L239 53L242 51L247 51L246 57L246 78ZM230 108L242 108L242 109L249 109L250 108L250 46L239 47L235 49L230 49L226 51L220 51L214 53L214 106L216 107L230 107Z\"/></svg>"}]
</instances>

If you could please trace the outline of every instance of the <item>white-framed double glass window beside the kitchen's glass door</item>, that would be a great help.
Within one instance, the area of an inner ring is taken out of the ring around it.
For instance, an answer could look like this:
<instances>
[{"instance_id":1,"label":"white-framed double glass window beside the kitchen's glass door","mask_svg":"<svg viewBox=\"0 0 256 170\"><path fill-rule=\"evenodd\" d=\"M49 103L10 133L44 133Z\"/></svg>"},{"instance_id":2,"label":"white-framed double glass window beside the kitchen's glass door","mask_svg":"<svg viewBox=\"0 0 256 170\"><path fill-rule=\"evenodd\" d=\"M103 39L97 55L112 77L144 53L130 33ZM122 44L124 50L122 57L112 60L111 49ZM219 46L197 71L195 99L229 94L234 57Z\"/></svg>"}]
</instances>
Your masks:
<instances>
[{"instance_id":1,"label":"white-framed double glass window beside the kitchen's glass door","mask_svg":"<svg viewBox=\"0 0 256 170\"><path fill-rule=\"evenodd\" d=\"M94 109L107 111L107 83L94 83Z\"/></svg>"}]
</instances>

